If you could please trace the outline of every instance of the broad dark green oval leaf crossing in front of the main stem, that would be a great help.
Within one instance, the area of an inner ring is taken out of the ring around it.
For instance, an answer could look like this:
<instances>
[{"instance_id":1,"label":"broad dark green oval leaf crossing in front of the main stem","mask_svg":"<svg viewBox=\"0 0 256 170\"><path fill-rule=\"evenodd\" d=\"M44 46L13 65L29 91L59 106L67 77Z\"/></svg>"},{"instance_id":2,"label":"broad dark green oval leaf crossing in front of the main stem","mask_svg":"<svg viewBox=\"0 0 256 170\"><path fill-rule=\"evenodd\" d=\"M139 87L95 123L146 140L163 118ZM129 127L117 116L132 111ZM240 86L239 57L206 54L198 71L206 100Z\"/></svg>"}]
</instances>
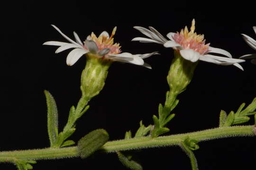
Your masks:
<instances>
[{"instance_id":1,"label":"broad dark green oval leaf crossing in front of the main stem","mask_svg":"<svg viewBox=\"0 0 256 170\"><path fill-rule=\"evenodd\" d=\"M104 129L97 129L91 131L89 134L82 137L78 143L77 148L82 159L87 158L103 144L109 140L109 134Z\"/></svg>"}]
</instances>

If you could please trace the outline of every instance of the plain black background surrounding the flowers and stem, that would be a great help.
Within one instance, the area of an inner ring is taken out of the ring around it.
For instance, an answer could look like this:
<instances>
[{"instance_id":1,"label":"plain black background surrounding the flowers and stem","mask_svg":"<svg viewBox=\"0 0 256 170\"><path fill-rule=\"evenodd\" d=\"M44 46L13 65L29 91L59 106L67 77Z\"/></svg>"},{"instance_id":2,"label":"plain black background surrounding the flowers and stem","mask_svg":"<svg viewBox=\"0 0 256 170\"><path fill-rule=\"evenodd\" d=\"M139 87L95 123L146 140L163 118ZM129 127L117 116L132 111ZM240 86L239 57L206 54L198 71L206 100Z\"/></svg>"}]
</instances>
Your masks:
<instances>
[{"instance_id":1,"label":"plain black background surrounding the flowers and stem","mask_svg":"<svg viewBox=\"0 0 256 170\"><path fill-rule=\"evenodd\" d=\"M234 5L234 4L233 4ZM239 5L239 4L237 4ZM250 6L244 2L244 5ZM220 8L221 7L221 8ZM43 46L46 41L66 40L50 24L58 26L73 38L73 31L85 39L93 31L99 35L111 33L117 26L115 42L123 52L161 55L145 59L152 70L115 62L109 69L106 85L89 103L91 108L77 122L71 137L78 141L97 128L104 128L110 140L122 139L125 131L137 130L140 120L152 124L159 103L165 101L168 90L166 75L173 50L159 44L130 42L143 36L133 26L153 26L163 35L191 26L196 20L196 32L204 34L211 46L229 51L234 58L255 53L242 39L241 33L256 35L254 11L217 4L197 6L183 2L104 2L100 1L37 1L9 2L2 6L2 72L0 119L0 151L45 148L49 146L46 130L46 102L43 90L50 91L58 105L59 127L66 123L68 110L80 98L80 75L86 59L72 67L65 63L69 52L55 54L55 46ZM243 10L242 10L243 9ZM249 61L241 64L245 71L234 66L219 66L201 61L187 90L179 95L180 103L169 123L169 134L193 132L218 127L219 111L237 110L242 102L256 97L256 66ZM253 124L251 119L248 124ZM200 143L195 151L199 169L234 169L255 166L255 137L233 137ZM145 170L190 169L190 161L178 147L146 149L137 152ZM242 166L243 165L243 166ZM125 170L116 154L95 155L85 160L63 159L38 161L35 170L49 169L113 169ZM14 170L11 164L0 169Z\"/></svg>"}]
</instances>

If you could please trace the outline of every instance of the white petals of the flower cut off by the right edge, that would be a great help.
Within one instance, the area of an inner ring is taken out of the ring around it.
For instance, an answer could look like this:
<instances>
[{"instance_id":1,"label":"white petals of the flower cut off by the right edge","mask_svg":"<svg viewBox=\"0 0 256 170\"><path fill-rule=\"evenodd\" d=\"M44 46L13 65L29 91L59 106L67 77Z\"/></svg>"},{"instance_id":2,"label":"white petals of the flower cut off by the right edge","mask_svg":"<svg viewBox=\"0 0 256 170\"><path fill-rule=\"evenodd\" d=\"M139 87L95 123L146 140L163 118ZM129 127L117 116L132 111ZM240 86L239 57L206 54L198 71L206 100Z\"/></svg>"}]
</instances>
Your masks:
<instances>
[{"instance_id":1,"label":"white petals of the flower cut off by the right edge","mask_svg":"<svg viewBox=\"0 0 256 170\"><path fill-rule=\"evenodd\" d=\"M253 26L253 30L256 34L256 26ZM242 34L243 35L243 38L245 40L245 42L250 46L252 47L254 50L256 50L256 41L249 37L248 35L246 34ZM239 57L240 59L252 59L251 62L253 64L256 64L256 54L247 54L247 55L243 55L241 57Z\"/></svg>"}]
</instances>

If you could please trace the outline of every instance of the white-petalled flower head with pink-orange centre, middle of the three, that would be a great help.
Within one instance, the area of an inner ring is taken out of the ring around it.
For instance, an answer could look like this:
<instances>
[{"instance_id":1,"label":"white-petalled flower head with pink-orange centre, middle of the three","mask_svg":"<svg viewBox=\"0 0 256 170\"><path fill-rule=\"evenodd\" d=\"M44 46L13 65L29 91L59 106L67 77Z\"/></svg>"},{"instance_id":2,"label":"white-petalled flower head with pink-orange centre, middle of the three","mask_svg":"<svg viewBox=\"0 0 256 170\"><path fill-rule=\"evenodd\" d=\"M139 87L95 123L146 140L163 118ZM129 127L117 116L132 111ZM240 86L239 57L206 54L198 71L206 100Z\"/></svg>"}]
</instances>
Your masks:
<instances>
[{"instance_id":1,"label":"white-petalled flower head with pink-orange centre, middle of the three","mask_svg":"<svg viewBox=\"0 0 256 170\"><path fill-rule=\"evenodd\" d=\"M139 30L142 34L145 34L149 38L136 37L132 41L139 42L155 42L163 44L166 48L171 47L176 51L179 51L184 59L196 62L198 60L211 62L219 65L234 65L243 70L242 66L238 63L244 62L244 59L233 59L228 51L210 47L210 43L205 44L204 35L196 34L195 30L195 20L192 20L192 26L190 32L187 26L182 29L180 33L169 33L167 37L169 41L165 39L158 31L153 27L149 27L150 30L135 26L135 29ZM220 57L211 55L209 53L219 53L227 57Z\"/></svg>"}]
</instances>

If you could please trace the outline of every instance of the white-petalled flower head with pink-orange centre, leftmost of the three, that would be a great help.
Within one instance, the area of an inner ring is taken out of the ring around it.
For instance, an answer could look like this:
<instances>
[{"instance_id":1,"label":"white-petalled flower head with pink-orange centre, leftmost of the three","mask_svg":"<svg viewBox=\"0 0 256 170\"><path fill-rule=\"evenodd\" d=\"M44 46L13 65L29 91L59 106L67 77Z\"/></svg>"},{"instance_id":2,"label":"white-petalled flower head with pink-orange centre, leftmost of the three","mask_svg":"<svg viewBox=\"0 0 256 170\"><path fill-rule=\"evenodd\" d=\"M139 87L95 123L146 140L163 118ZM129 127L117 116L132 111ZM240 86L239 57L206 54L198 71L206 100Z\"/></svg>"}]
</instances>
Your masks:
<instances>
[{"instance_id":1,"label":"white-petalled flower head with pink-orange centre, leftmost of the three","mask_svg":"<svg viewBox=\"0 0 256 170\"><path fill-rule=\"evenodd\" d=\"M147 54L136 54L133 55L128 52L121 53L119 43L114 43L114 34L116 32L117 27L114 27L112 34L109 35L108 32L103 31L99 37L97 37L93 32L91 35L87 36L86 40L82 43L79 36L73 32L75 41L67 37L65 34L61 32L59 28L52 25L68 42L57 42L57 41L49 41L43 43L43 45L55 45L60 46L55 53L59 53L61 51L74 48L69 52L66 63L69 66L72 66L78 59L82 57L83 54L98 57L100 59L105 59L109 61L120 61L125 63L131 63L136 65L141 65L146 68L151 68L150 65L144 63L145 58L150 57L154 54L158 54L156 51Z\"/></svg>"}]
</instances>

